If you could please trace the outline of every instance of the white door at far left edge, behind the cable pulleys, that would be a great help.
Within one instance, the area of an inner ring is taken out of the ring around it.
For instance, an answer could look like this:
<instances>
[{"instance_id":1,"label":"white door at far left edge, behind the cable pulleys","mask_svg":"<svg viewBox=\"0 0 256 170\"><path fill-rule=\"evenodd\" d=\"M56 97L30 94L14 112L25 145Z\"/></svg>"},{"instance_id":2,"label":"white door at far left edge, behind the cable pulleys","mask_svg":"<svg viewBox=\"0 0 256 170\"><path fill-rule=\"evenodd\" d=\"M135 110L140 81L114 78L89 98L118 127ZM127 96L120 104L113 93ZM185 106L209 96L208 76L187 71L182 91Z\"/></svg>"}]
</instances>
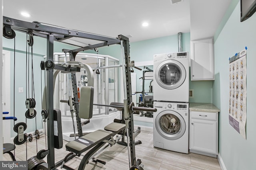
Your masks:
<instances>
[{"instance_id":1,"label":"white door at far left edge, behind the cable pulleys","mask_svg":"<svg viewBox=\"0 0 256 170\"><path fill-rule=\"evenodd\" d=\"M3 117L9 117L10 113L10 51L3 50L2 55L2 111L8 111L9 114L3 114ZM11 138L11 123L13 120L3 120L3 141L4 143L10 143Z\"/></svg>"}]
</instances>

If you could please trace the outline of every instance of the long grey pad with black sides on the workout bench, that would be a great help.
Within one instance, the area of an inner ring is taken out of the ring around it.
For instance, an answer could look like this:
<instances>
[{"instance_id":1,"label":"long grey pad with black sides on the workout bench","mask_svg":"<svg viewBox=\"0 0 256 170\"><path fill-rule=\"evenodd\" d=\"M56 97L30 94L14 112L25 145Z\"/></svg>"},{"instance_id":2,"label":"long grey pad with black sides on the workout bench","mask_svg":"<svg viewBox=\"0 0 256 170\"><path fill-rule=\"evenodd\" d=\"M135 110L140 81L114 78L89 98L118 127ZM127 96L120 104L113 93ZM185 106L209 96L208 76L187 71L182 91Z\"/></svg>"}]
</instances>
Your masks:
<instances>
[{"instance_id":1,"label":"long grey pad with black sides on the workout bench","mask_svg":"<svg viewBox=\"0 0 256 170\"><path fill-rule=\"evenodd\" d=\"M112 135L113 133L100 129L67 143L66 149L76 154L81 154L98 143L109 139Z\"/></svg>"}]
</instances>

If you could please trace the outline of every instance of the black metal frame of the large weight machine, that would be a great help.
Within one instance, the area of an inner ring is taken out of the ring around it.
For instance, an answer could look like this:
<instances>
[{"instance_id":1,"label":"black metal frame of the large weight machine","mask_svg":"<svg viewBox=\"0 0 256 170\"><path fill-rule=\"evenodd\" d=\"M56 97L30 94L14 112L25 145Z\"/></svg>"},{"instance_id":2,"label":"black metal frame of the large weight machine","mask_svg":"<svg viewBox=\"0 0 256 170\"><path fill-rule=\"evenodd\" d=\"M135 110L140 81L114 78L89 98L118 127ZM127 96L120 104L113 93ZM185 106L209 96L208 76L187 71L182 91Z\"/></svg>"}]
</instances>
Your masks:
<instances>
[{"instance_id":1,"label":"black metal frame of the large weight machine","mask_svg":"<svg viewBox=\"0 0 256 170\"><path fill-rule=\"evenodd\" d=\"M131 75L130 75L130 45L129 45L129 39L123 35L118 35L118 37L111 38L107 36L102 35L96 35L91 33L85 33L81 31L76 30L70 30L70 29L63 29L63 28L57 28L52 27L48 25L42 25L40 23L34 23L34 22L27 22L27 21L21 21L16 20L8 17L3 17L3 25L4 27L8 28L7 30L14 29L21 32L32 32L33 35L44 37L47 39L47 61L53 61L53 42L54 41L60 41L64 39L68 39L71 37L80 37L84 39L93 39L98 41L103 41L102 43L94 44L94 45L88 45L86 47L81 47L78 49L68 50L63 49L62 51L65 53L70 53L70 60L74 61L76 54L80 51L85 51L89 49L95 49L99 47L114 45L114 44L124 44L124 57L125 57L125 78L126 78L126 90L127 90L127 107L130 106L132 103L132 88L131 88ZM7 32L6 32L7 33ZM64 43L64 42L63 42ZM66 71L67 68L59 65L55 66L59 70ZM49 154L47 157L48 162L48 169L54 169L54 132L52 129L54 129L54 119L53 119L53 92L54 92L54 84L53 84L53 70L54 69L47 69L47 89L46 89L46 96L47 96L47 112L48 112L48 121L47 121L47 127L48 127L48 150ZM73 75L73 74L72 74ZM75 76L73 75L73 85L76 84ZM77 98L77 89L74 89L74 96ZM78 101L78 99L75 98L75 101ZM125 105L126 106L126 105ZM79 105L76 104L76 110L78 111ZM132 111L129 111L128 108L124 109L127 113L125 115L128 115L126 119L130 119L129 121L129 137L130 137L130 156L131 156L131 165L136 164L136 157L135 157L135 144L134 144L134 122L133 122L133 114ZM129 112L129 113L128 113ZM76 115L78 116L78 113ZM81 120L78 118L77 124L81 126ZM78 129L79 136L82 136L82 127L79 127Z\"/></svg>"}]
</instances>

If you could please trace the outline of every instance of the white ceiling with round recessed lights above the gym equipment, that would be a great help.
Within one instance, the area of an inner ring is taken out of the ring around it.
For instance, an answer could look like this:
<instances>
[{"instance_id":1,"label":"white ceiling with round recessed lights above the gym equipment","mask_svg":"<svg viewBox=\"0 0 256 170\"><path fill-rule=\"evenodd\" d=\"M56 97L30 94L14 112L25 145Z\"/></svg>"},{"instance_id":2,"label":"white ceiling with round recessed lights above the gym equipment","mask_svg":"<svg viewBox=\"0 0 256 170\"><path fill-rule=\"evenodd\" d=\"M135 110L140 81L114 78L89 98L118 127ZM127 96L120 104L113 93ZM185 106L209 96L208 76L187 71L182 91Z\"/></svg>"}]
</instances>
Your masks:
<instances>
[{"instance_id":1,"label":"white ceiling with round recessed lights above the gym equipment","mask_svg":"<svg viewBox=\"0 0 256 170\"><path fill-rule=\"evenodd\" d=\"M130 41L190 32L191 40L212 37L231 0L4 0L3 15L39 21ZM30 18L21 16L26 11ZM142 22L147 21L148 27ZM88 42L90 43L90 42Z\"/></svg>"}]
</instances>

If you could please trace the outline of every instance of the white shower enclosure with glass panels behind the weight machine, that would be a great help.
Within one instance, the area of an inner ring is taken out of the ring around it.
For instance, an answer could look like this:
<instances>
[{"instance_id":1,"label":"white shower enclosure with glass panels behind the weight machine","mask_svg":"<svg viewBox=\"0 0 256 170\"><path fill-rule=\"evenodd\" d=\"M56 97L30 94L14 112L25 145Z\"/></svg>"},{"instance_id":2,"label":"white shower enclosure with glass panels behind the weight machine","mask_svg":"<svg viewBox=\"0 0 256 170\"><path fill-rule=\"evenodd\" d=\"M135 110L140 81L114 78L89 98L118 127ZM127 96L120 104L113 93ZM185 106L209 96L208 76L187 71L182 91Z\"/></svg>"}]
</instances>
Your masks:
<instances>
[{"instance_id":1,"label":"white shower enclosure with glass panels behind the weight machine","mask_svg":"<svg viewBox=\"0 0 256 170\"><path fill-rule=\"evenodd\" d=\"M69 61L68 53L66 55L64 53L54 53L54 62L56 64L67 61ZM104 68L117 65L118 59L109 55L78 53L75 61L88 64L94 70L94 104L110 105L111 102L118 101L118 68ZM80 89L82 86L86 86L87 82L87 73L84 68L81 68L80 72L76 72L77 88ZM54 88L54 108L61 110L62 133L63 139L66 141L74 139L74 137L70 137L70 134L74 134L74 130L70 107L67 103L60 102L60 100L68 100L69 96L73 96L71 73L59 73L56 77ZM90 119L90 123L82 127L82 130L86 133L103 129L106 125L113 122L115 118L120 119L120 111L112 107L94 105L92 119ZM82 119L81 121L85 120ZM77 133L76 120L74 122Z\"/></svg>"}]
</instances>

